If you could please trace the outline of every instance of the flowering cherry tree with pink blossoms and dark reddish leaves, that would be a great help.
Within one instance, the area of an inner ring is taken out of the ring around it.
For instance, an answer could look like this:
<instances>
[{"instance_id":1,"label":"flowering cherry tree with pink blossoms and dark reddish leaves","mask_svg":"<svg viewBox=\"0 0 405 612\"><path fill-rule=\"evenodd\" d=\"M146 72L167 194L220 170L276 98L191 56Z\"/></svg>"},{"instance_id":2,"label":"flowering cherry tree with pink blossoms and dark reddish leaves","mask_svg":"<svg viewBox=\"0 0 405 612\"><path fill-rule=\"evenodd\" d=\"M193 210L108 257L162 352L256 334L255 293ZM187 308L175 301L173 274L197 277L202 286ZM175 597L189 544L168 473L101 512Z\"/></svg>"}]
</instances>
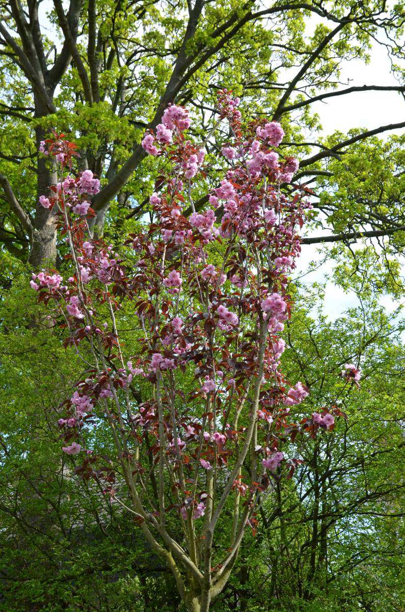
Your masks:
<instances>
[{"instance_id":1,"label":"flowering cherry tree with pink blossoms and dark reddish leaves","mask_svg":"<svg viewBox=\"0 0 405 612\"><path fill-rule=\"evenodd\" d=\"M297 187L281 192L298 167L274 151L281 125L256 122L242 133L237 105L220 93L228 171L198 210L193 181L206 177L204 149L185 135L187 110L166 108L142 141L162 162L150 196L154 222L128 236L120 253L92 238L100 182L89 170L72 173L75 145L56 133L42 143L61 178L40 203L58 208L72 272L66 280L33 274L31 286L86 369L61 406L62 451L77 456L76 474L132 513L190 612L209 610L243 535L256 530L259 504L300 463L291 454L296 436L332 430L342 414L335 406L307 414L308 388L281 373L287 275L310 204ZM128 302L132 354L117 329ZM353 368L343 376L357 384ZM101 424L113 440L108 461L91 448ZM219 530L223 548L214 547Z\"/></svg>"}]
</instances>

